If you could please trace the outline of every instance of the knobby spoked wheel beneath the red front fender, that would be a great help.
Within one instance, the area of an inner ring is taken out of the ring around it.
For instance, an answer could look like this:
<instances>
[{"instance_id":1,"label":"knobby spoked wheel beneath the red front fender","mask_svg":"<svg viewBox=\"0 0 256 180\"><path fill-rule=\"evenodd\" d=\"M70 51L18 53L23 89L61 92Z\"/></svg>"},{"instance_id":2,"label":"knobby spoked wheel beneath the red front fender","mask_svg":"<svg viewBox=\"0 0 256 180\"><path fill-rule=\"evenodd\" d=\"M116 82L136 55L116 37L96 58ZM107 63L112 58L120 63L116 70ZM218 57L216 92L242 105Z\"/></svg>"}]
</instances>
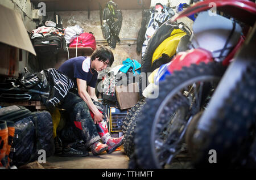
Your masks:
<instances>
[{"instance_id":1,"label":"knobby spoked wheel beneath the red front fender","mask_svg":"<svg viewBox=\"0 0 256 180\"><path fill-rule=\"evenodd\" d=\"M189 119L201 110L204 83L216 85L224 72L221 63L200 63L183 67L159 83L158 98L146 100L137 122L135 153L141 168L171 163L181 150Z\"/></svg>"}]
</instances>

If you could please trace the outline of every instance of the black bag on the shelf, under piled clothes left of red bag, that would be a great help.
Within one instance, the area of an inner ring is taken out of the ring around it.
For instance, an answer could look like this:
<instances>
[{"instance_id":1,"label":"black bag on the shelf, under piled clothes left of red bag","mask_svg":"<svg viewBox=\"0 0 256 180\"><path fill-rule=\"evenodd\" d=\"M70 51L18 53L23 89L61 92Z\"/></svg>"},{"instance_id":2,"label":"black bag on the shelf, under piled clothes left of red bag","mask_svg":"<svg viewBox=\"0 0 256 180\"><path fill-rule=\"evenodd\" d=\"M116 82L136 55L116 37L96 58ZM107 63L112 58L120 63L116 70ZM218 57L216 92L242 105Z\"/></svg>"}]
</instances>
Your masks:
<instances>
[{"instance_id":1,"label":"black bag on the shelf, under piled clothes left of red bag","mask_svg":"<svg viewBox=\"0 0 256 180\"><path fill-rule=\"evenodd\" d=\"M47 35L35 37L33 40L35 52L39 55L57 54L59 50L65 49L65 38L59 35Z\"/></svg>"}]
</instances>

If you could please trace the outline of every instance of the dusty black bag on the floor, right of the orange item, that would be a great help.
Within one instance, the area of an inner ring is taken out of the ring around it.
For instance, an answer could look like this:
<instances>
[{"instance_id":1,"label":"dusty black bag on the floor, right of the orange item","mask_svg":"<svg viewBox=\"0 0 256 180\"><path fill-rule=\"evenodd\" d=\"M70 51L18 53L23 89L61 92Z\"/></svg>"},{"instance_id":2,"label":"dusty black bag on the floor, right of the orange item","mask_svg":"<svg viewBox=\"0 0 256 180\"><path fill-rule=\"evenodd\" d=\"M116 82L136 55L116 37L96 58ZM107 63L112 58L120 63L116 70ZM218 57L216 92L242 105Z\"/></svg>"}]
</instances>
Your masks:
<instances>
[{"instance_id":1,"label":"dusty black bag on the floor, right of the orange item","mask_svg":"<svg viewBox=\"0 0 256 180\"><path fill-rule=\"evenodd\" d=\"M20 166L38 160L38 151L44 149L46 157L55 151L51 114L47 111L30 112L23 106L0 109L0 119L14 122L15 134L10 152L11 165Z\"/></svg>"}]
</instances>

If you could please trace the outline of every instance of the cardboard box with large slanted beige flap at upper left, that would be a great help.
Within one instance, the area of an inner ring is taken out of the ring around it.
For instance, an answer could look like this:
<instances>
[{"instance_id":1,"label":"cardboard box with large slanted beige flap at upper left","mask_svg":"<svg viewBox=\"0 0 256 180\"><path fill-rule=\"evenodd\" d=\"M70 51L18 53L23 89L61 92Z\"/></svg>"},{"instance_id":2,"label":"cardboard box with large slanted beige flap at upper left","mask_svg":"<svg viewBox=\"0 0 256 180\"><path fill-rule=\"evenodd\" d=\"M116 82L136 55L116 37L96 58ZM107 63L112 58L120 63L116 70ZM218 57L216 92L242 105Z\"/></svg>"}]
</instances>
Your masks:
<instances>
[{"instance_id":1,"label":"cardboard box with large slanted beige flap at upper left","mask_svg":"<svg viewBox=\"0 0 256 180\"><path fill-rule=\"evenodd\" d=\"M18 12L0 5L0 75L16 77L19 49L36 55L30 37Z\"/></svg>"}]
</instances>

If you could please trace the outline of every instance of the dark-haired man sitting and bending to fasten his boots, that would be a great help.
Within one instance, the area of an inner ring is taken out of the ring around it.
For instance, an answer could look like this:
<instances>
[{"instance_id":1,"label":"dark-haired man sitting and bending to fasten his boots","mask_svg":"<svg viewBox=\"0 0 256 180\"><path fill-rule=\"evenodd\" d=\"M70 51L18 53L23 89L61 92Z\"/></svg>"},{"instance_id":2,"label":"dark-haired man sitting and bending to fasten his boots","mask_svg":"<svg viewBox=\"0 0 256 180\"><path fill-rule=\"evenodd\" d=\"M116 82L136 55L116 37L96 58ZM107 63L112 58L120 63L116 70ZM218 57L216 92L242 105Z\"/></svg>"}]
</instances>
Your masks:
<instances>
[{"instance_id":1,"label":"dark-haired man sitting and bending to fasten his boots","mask_svg":"<svg viewBox=\"0 0 256 180\"><path fill-rule=\"evenodd\" d=\"M76 135L85 142L93 155L100 155L104 151L112 153L123 140L123 136L111 138L106 126L108 119L102 109L100 111L95 105L98 105L95 94L97 71L105 70L113 61L112 51L101 46L91 57L71 58L59 67L59 71L71 78L77 87L77 94L69 92L59 107L67 109L75 125Z\"/></svg>"}]
</instances>

